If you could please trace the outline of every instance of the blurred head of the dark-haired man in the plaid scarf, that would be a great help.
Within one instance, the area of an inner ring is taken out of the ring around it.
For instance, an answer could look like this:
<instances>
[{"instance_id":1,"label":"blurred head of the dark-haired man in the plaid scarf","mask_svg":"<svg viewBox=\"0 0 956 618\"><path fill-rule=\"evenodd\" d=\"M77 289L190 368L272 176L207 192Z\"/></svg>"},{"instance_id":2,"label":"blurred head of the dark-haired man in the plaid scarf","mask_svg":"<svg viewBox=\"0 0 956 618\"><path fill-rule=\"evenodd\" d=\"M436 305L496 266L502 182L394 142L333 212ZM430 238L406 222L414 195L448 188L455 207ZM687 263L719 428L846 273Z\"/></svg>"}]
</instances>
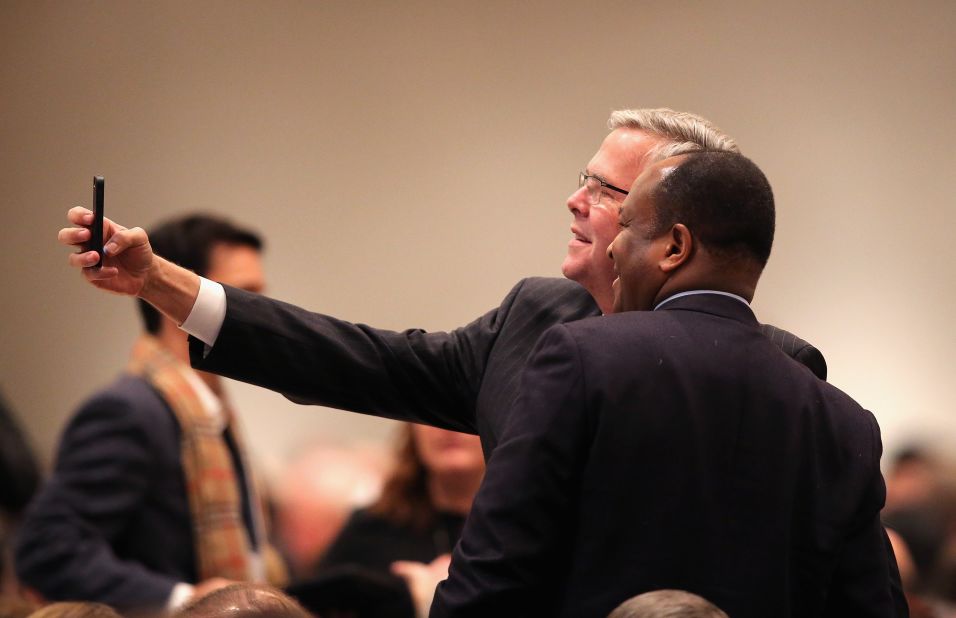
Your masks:
<instances>
[{"instance_id":1,"label":"blurred head of the dark-haired man in the plaid scarf","mask_svg":"<svg viewBox=\"0 0 956 618\"><path fill-rule=\"evenodd\" d=\"M201 277L250 292L265 288L262 240L221 217L187 215L166 221L149 230L149 244L157 255ZM146 331L158 335L163 315L142 299L139 309Z\"/></svg>"}]
</instances>

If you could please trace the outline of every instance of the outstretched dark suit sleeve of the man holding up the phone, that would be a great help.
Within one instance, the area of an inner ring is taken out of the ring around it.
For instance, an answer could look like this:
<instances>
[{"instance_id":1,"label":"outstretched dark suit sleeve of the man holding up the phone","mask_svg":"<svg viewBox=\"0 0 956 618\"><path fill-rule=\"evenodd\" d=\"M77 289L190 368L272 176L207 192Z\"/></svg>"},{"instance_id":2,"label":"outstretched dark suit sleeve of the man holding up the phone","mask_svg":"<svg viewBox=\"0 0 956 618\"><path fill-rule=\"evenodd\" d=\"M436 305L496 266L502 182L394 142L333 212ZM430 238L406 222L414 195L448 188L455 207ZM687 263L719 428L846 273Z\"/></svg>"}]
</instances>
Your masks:
<instances>
[{"instance_id":1,"label":"outstretched dark suit sleeve of the man holding up the phone","mask_svg":"<svg viewBox=\"0 0 956 618\"><path fill-rule=\"evenodd\" d=\"M477 433L485 363L522 285L499 308L447 333L352 324L224 286L216 345L204 356L204 344L191 338L191 361L297 403Z\"/></svg>"}]
</instances>

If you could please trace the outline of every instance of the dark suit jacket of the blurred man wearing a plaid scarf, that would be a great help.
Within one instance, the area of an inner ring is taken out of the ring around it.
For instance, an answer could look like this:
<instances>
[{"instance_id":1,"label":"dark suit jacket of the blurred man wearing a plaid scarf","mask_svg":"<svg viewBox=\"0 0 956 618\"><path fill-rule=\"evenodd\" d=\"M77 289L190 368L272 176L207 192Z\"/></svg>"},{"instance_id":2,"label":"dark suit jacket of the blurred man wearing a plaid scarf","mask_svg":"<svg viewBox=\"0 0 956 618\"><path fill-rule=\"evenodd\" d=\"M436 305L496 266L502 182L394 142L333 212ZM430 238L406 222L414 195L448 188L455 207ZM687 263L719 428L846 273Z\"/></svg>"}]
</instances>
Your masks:
<instances>
[{"instance_id":1,"label":"dark suit jacket of the blurred man wearing a plaid scarf","mask_svg":"<svg viewBox=\"0 0 956 618\"><path fill-rule=\"evenodd\" d=\"M195 562L179 423L146 381L123 376L67 425L17 535L17 572L49 600L150 608L195 583Z\"/></svg>"}]
</instances>

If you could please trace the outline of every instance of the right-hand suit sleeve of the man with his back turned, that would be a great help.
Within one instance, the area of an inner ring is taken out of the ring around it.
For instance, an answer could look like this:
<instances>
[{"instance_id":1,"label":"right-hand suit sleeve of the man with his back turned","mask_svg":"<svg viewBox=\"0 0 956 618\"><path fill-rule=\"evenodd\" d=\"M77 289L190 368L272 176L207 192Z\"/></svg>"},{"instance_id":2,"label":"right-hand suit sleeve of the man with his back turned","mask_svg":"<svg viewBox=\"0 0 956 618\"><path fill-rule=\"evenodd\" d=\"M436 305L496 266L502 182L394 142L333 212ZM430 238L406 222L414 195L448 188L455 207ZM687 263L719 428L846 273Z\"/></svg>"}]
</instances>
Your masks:
<instances>
[{"instance_id":1,"label":"right-hand suit sleeve of the man with his back turned","mask_svg":"<svg viewBox=\"0 0 956 618\"><path fill-rule=\"evenodd\" d=\"M886 485L880 473L882 446L876 419L869 415L874 456L873 470L833 574L826 616L901 618L909 608L900 582L893 547L880 522Z\"/></svg>"}]
</instances>

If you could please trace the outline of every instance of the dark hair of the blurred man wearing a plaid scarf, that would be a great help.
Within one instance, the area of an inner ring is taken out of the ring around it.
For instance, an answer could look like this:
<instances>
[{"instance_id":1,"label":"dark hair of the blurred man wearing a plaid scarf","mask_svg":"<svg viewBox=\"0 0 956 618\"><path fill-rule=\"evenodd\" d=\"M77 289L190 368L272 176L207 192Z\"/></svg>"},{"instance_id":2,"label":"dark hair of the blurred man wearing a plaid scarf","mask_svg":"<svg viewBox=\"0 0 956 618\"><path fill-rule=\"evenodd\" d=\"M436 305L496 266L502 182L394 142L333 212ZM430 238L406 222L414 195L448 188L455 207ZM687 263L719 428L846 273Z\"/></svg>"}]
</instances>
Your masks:
<instances>
[{"instance_id":1,"label":"dark hair of the blurred man wearing a plaid scarf","mask_svg":"<svg viewBox=\"0 0 956 618\"><path fill-rule=\"evenodd\" d=\"M197 275L209 271L209 256L216 245L239 245L262 250L262 240L249 230L211 215L188 215L166 221L149 231L153 253L188 268ZM159 332L159 311L140 299L139 310L149 333Z\"/></svg>"}]
</instances>

